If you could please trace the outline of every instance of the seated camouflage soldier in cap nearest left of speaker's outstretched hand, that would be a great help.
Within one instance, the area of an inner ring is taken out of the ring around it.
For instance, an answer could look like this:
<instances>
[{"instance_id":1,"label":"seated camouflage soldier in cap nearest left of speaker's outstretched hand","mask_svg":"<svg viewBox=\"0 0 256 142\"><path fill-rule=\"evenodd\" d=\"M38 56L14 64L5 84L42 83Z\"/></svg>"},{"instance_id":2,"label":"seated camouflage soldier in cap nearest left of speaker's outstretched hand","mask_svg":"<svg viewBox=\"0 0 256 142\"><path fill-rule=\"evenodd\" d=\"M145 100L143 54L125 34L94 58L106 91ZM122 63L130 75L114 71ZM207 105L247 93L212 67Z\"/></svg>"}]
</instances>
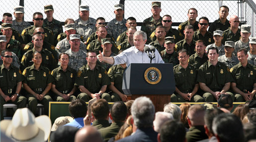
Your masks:
<instances>
[{"instance_id":1,"label":"seated camouflage soldier in cap nearest left of speaker's outstretched hand","mask_svg":"<svg viewBox=\"0 0 256 142\"><path fill-rule=\"evenodd\" d=\"M82 66L87 64L86 52L80 49L81 39L80 35L72 34L70 35L70 49L65 53L69 54L69 66L76 71L79 70Z\"/></svg>"}]
</instances>

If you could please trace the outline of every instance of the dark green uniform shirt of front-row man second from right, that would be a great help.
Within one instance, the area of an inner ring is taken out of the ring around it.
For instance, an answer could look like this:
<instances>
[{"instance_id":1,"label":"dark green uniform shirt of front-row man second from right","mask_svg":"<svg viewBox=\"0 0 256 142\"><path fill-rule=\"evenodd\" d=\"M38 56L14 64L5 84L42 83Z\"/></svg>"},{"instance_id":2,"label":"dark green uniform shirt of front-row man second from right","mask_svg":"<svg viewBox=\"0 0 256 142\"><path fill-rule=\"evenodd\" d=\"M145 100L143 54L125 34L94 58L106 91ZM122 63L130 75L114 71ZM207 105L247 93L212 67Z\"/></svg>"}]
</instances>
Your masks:
<instances>
[{"instance_id":1,"label":"dark green uniform shirt of front-row man second from right","mask_svg":"<svg viewBox=\"0 0 256 142\"><path fill-rule=\"evenodd\" d=\"M213 66L209 61L198 69L197 82L206 84L213 92L221 91L226 83L232 82L233 78L225 64L218 62Z\"/></svg>"}]
</instances>

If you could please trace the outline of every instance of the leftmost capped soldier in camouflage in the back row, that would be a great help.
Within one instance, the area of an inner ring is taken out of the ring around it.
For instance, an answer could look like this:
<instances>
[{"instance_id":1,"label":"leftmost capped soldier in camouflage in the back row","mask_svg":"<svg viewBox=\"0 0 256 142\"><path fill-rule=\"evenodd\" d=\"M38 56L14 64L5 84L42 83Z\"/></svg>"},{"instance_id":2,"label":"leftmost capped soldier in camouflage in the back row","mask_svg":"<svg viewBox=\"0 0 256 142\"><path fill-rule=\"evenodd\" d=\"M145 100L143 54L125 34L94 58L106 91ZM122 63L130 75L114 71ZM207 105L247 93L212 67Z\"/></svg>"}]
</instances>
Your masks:
<instances>
[{"instance_id":1,"label":"leftmost capped soldier in camouflage in the back row","mask_svg":"<svg viewBox=\"0 0 256 142\"><path fill-rule=\"evenodd\" d=\"M13 15L15 17L15 20L12 21L12 28L21 34L23 29L30 27L31 25L28 22L25 22L23 20L24 16L24 7L23 6L15 6Z\"/></svg>"}]
</instances>

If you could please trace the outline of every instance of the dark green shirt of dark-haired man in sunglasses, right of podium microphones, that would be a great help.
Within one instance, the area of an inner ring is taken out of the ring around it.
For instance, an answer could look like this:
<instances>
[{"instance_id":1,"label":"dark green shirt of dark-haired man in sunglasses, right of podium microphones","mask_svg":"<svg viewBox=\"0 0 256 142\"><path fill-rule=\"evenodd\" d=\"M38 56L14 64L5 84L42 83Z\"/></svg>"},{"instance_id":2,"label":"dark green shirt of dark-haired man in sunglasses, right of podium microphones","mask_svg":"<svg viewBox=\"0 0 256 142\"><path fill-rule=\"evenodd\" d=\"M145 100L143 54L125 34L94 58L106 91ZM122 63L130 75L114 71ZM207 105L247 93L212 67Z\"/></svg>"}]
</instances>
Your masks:
<instances>
[{"instance_id":1,"label":"dark green shirt of dark-haired man in sunglasses, right of podium microphones","mask_svg":"<svg viewBox=\"0 0 256 142\"><path fill-rule=\"evenodd\" d=\"M199 30L194 33L193 40L202 40L205 43L205 46L214 44L213 35L211 33L206 32L206 34L203 36Z\"/></svg>"}]
</instances>

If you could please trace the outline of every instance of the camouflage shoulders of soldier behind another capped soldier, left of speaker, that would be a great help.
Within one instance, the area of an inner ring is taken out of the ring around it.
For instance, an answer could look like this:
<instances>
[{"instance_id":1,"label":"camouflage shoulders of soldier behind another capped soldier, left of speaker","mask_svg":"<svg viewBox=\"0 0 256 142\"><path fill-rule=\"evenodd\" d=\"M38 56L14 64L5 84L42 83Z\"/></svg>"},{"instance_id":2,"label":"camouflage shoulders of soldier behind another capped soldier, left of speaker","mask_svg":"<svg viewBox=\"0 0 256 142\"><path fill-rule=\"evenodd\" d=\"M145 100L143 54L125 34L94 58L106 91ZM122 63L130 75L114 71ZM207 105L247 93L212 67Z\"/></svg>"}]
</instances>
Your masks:
<instances>
[{"instance_id":1,"label":"camouflage shoulders of soldier behind another capped soldier, left of speaker","mask_svg":"<svg viewBox=\"0 0 256 142\"><path fill-rule=\"evenodd\" d=\"M68 49L70 49L70 43L68 41L68 39L63 39L62 41L60 41L57 46L56 46L56 51L58 52L58 54L61 54L63 52L66 52ZM85 51L85 53L87 52L86 51L86 46L85 44L80 41L80 47L79 47L81 50Z\"/></svg>"}]
</instances>

